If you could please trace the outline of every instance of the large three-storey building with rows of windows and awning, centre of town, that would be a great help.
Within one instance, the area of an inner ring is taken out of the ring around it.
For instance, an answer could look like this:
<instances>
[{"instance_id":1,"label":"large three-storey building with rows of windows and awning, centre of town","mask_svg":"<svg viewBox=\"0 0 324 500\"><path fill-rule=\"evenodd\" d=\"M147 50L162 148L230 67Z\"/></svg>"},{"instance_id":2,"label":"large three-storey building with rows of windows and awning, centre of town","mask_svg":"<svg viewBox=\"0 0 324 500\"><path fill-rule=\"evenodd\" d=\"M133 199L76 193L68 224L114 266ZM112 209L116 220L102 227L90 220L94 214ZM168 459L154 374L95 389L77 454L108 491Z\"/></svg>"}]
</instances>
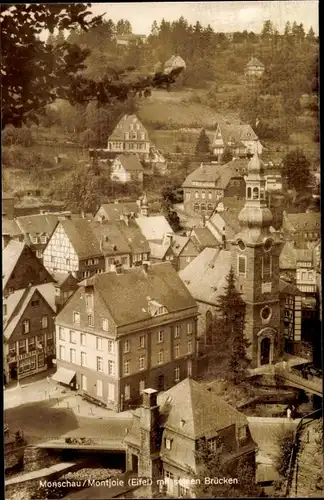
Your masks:
<instances>
[{"instance_id":1,"label":"large three-storey building with rows of windows and awning, centre of town","mask_svg":"<svg viewBox=\"0 0 324 500\"><path fill-rule=\"evenodd\" d=\"M196 322L196 302L170 263L93 276L56 318L55 379L127 409L145 387L194 374Z\"/></svg>"}]
</instances>

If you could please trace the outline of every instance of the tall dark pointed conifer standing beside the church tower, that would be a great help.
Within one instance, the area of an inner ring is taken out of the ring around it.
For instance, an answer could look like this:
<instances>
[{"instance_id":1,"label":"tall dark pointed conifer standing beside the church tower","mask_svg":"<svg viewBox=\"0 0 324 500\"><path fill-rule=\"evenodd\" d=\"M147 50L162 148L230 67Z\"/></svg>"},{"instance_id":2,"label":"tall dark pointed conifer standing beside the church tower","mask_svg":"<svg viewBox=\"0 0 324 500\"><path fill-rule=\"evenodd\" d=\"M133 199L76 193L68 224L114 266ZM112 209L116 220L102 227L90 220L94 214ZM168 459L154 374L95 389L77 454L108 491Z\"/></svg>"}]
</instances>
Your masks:
<instances>
[{"instance_id":1,"label":"tall dark pointed conifer standing beside the church tower","mask_svg":"<svg viewBox=\"0 0 324 500\"><path fill-rule=\"evenodd\" d=\"M224 294L218 298L217 317L208 332L209 367L222 378L239 384L246 376L250 359L245 337L246 305L236 289L233 268L226 278Z\"/></svg>"}]
</instances>

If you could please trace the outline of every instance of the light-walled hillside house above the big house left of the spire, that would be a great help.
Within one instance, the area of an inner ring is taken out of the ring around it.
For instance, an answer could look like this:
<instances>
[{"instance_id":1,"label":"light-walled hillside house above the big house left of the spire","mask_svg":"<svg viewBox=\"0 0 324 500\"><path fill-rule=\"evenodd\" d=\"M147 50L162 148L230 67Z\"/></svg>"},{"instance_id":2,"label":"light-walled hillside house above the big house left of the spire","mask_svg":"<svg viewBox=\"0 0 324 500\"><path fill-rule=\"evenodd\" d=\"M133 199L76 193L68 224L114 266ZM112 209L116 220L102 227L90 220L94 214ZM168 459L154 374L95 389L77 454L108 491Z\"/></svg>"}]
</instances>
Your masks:
<instances>
[{"instance_id":1,"label":"light-walled hillside house above the big house left of the spire","mask_svg":"<svg viewBox=\"0 0 324 500\"><path fill-rule=\"evenodd\" d=\"M233 158L245 158L249 154L262 153L262 144L251 125L218 124L211 144L212 153L219 160L225 150Z\"/></svg>"}]
</instances>

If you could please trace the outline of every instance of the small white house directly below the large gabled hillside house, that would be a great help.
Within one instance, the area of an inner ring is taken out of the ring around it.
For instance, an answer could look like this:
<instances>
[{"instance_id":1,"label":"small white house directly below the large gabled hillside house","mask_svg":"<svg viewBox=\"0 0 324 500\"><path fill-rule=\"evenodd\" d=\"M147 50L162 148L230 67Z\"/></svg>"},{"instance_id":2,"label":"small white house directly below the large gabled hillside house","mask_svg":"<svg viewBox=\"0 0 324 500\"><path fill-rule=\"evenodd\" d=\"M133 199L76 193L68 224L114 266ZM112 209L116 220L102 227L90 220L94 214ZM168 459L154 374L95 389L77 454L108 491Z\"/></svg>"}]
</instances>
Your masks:
<instances>
[{"instance_id":1,"label":"small white house directly below the large gabled hillside house","mask_svg":"<svg viewBox=\"0 0 324 500\"><path fill-rule=\"evenodd\" d=\"M111 180L121 182L139 182L143 184L143 166L137 155L120 154L111 164Z\"/></svg>"}]
</instances>

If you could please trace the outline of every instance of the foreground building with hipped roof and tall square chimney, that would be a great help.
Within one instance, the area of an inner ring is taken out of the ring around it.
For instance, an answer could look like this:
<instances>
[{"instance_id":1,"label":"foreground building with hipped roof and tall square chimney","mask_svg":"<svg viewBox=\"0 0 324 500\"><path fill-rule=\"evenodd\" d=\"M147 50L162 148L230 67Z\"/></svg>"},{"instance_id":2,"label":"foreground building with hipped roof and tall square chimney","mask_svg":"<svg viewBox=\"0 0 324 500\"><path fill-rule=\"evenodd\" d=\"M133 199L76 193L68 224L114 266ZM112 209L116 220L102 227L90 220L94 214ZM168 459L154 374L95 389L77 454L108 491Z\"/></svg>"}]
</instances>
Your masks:
<instances>
[{"instance_id":1,"label":"foreground building with hipped roof and tall square chimney","mask_svg":"<svg viewBox=\"0 0 324 500\"><path fill-rule=\"evenodd\" d=\"M125 438L126 470L139 477L162 479L166 491L162 489L160 494L194 497L191 485L195 474L199 476L196 452L202 442L211 451L222 446L224 476L235 477L237 465L243 461L251 467L255 480L256 444L242 413L191 378L159 395L145 389L142 407L133 413Z\"/></svg>"}]
</instances>

